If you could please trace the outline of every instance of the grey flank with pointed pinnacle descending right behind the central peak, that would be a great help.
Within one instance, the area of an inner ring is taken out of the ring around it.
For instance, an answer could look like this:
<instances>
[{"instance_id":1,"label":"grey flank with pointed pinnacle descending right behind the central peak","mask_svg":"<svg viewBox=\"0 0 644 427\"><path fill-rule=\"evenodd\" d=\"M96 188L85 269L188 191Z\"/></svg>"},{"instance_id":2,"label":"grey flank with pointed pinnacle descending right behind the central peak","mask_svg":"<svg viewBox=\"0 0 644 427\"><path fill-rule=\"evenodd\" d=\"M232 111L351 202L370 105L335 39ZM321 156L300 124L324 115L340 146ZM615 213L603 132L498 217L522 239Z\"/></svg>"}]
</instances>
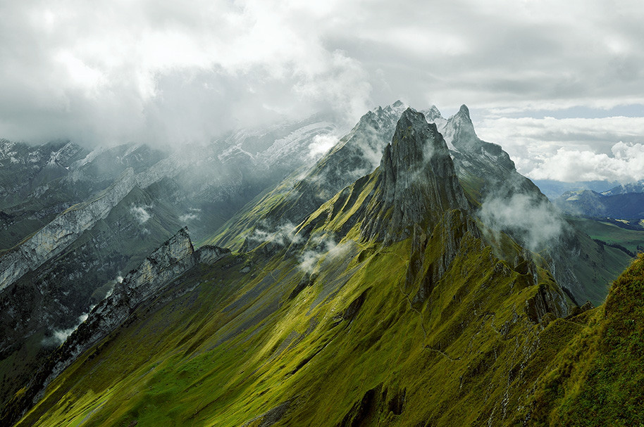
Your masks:
<instances>
[{"instance_id":1,"label":"grey flank with pointed pinnacle descending right behind the central peak","mask_svg":"<svg viewBox=\"0 0 644 427\"><path fill-rule=\"evenodd\" d=\"M628 256L602 250L566 222L538 187L516 172L500 146L478 138L466 106L447 120L442 132L466 195L481 207L483 224L543 253L557 282L578 304L590 300L599 305L610 281L628 265Z\"/></svg>"}]
</instances>

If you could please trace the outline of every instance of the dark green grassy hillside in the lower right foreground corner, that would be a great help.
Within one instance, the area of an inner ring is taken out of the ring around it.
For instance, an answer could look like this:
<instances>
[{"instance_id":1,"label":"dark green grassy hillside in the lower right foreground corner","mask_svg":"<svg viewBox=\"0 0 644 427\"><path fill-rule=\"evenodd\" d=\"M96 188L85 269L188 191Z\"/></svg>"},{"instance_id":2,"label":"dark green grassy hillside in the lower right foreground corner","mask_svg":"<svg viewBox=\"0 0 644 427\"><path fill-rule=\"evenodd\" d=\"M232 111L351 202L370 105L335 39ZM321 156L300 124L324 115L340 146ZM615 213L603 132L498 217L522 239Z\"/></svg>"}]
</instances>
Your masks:
<instances>
[{"instance_id":1,"label":"dark green grassy hillside in the lower right foreground corner","mask_svg":"<svg viewBox=\"0 0 644 427\"><path fill-rule=\"evenodd\" d=\"M641 426L644 423L644 257L614 282L605 305L557 355L538 385L535 423Z\"/></svg>"}]
</instances>

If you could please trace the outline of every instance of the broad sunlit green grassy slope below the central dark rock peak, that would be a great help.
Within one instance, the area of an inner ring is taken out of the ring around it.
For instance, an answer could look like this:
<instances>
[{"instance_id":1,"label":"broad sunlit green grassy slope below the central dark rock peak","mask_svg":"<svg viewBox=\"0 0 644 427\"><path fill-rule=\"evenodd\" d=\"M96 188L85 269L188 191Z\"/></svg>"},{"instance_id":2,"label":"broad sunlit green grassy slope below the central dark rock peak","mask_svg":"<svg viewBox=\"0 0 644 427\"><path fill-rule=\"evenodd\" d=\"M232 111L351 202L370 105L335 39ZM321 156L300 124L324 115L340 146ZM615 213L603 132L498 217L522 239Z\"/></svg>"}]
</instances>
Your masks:
<instances>
[{"instance_id":1,"label":"broad sunlit green grassy slope below the central dark rock peak","mask_svg":"<svg viewBox=\"0 0 644 427\"><path fill-rule=\"evenodd\" d=\"M180 285L194 291L140 307L20 425L239 426L287 401L283 425L453 425L507 419L503 408L526 400L540 373L519 366L540 331L524 313L538 289L526 276L466 236L416 309L404 289L409 240L340 247L292 299L304 276L292 257L266 260L259 248L237 257L252 265L245 274L233 256L195 269ZM426 258L438 255L431 241Z\"/></svg>"}]
</instances>

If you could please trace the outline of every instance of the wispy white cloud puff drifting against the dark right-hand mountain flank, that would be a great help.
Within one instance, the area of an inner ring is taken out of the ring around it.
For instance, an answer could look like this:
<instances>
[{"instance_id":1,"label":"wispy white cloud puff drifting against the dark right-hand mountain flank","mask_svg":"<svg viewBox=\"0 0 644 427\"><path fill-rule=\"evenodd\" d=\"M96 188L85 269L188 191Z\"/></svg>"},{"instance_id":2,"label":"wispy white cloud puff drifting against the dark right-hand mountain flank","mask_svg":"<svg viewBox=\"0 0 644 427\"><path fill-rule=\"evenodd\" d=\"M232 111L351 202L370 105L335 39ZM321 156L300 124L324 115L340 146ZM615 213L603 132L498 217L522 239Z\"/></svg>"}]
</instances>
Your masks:
<instances>
[{"instance_id":1,"label":"wispy white cloud puff drifting against the dark right-hand mountain flank","mask_svg":"<svg viewBox=\"0 0 644 427\"><path fill-rule=\"evenodd\" d=\"M478 213L485 226L512 234L526 248L539 251L557 241L564 223L547 200L514 193L489 196Z\"/></svg>"}]
</instances>

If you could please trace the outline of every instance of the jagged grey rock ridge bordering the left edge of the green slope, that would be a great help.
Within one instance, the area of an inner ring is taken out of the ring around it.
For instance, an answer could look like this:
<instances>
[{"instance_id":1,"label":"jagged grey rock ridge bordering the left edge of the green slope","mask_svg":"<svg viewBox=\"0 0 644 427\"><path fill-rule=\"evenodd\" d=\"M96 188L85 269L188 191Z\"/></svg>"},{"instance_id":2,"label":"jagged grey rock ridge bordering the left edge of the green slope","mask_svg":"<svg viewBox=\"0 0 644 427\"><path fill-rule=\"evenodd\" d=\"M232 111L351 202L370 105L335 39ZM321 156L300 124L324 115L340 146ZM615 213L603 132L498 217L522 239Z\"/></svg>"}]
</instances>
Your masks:
<instances>
[{"instance_id":1,"label":"jagged grey rock ridge bordering the left edge of the green slope","mask_svg":"<svg viewBox=\"0 0 644 427\"><path fill-rule=\"evenodd\" d=\"M198 262L213 263L230 253L215 246L195 251L184 227L147 257L118 283L113 293L89 313L69 338L48 359L30 383L24 404L36 402L44 388L74 360L99 340L105 338L148 298L159 295L168 284ZM20 405L19 405L20 406ZM11 417L17 414L11 414Z\"/></svg>"}]
</instances>

